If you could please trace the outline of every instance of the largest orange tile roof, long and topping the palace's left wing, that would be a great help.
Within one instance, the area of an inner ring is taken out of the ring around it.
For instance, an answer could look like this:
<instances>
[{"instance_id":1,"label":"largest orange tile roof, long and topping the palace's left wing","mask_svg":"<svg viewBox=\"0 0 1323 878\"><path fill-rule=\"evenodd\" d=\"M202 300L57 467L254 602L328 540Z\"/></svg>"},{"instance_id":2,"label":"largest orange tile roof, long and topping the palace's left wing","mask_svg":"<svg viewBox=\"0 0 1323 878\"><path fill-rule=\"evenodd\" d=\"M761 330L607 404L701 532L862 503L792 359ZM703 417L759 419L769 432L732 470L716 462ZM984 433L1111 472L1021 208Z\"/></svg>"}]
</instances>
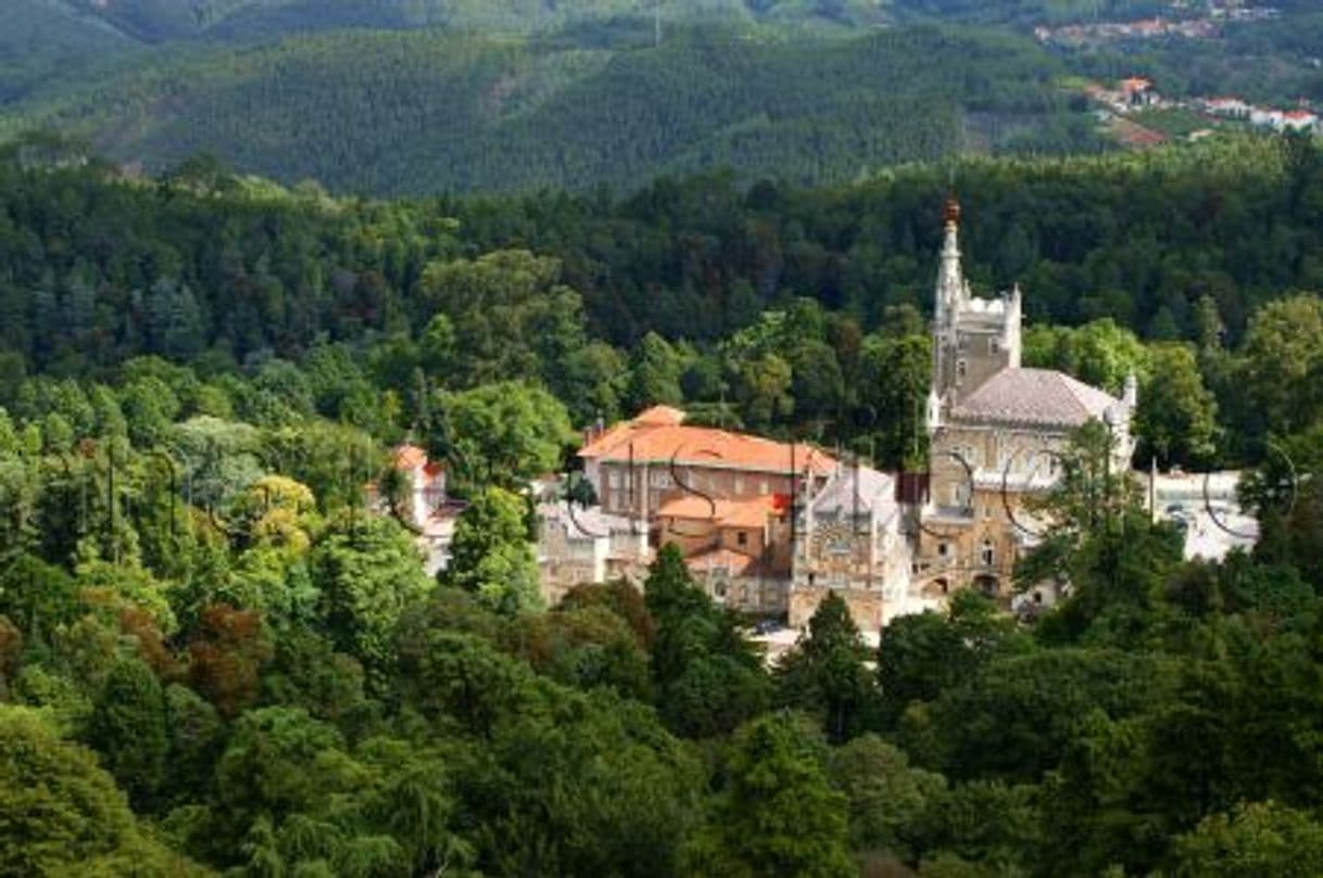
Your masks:
<instances>
[{"instance_id":1,"label":"largest orange tile roof, long and topping the palace's left wing","mask_svg":"<svg viewBox=\"0 0 1323 878\"><path fill-rule=\"evenodd\" d=\"M790 446L742 432L687 427L679 423L662 424L639 418L615 424L586 444L579 456L618 463L632 458L634 463L640 464L669 463L675 459L676 463L713 469L769 473L790 472L791 461L796 472L812 471L815 475L828 475L836 468L836 461L831 456L803 443Z\"/></svg>"}]
</instances>

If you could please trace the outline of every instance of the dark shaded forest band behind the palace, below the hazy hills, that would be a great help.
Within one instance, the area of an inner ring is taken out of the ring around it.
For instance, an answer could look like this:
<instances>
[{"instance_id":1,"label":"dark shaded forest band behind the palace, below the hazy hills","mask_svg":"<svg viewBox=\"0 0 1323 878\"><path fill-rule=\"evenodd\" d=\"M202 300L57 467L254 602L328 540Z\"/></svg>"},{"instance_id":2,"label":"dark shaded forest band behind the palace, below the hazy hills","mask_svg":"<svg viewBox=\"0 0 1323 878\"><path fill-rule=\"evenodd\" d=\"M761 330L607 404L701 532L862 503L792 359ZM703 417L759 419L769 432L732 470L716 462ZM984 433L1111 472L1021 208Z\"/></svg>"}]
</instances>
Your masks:
<instances>
[{"instance_id":1,"label":"dark shaded forest band behind the palace, below the hazy hills","mask_svg":"<svg viewBox=\"0 0 1323 878\"><path fill-rule=\"evenodd\" d=\"M729 176L708 176L659 180L623 200L549 193L400 202L335 201L316 186L294 194L259 186L270 193L263 198L202 161L142 184L116 182L97 164L40 169L77 157L65 149L33 143L0 167L3 300L8 313L28 315L7 320L3 332L11 349L44 366L64 356L60 337L71 329L56 320L58 311L49 323L34 320L30 294L62 296L74 279L98 298L142 295L163 279L187 284L202 298L201 323L183 353L221 345L243 358L296 352L321 331L384 328L384 296L406 298L427 259L509 247L560 259L591 325L617 344L650 329L717 339L786 296L816 299L872 328L888 307L929 307L937 212L953 180L970 217L971 275L990 287L1019 280L1033 321L1111 317L1147 337L1193 339L1195 305L1207 296L1236 339L1262 301L1323 282L1319 155L1307 140L913 167L820 190L770 182L742 190ZM213 189L222 196L216 202L198 194ZM212 298L230 278L255 272L257 286L275 284L273 292L216 307ZM376 323L340 328L348 319L340 299L369 295L343 290L340 272L349 272L351 287L381 275L385 286L364 303ZM111 317L122 320L123 311L102 315ZM122 329L97 328L95 345L70 339L75 370L135 349Z\"/></svg>"}]
</instances>

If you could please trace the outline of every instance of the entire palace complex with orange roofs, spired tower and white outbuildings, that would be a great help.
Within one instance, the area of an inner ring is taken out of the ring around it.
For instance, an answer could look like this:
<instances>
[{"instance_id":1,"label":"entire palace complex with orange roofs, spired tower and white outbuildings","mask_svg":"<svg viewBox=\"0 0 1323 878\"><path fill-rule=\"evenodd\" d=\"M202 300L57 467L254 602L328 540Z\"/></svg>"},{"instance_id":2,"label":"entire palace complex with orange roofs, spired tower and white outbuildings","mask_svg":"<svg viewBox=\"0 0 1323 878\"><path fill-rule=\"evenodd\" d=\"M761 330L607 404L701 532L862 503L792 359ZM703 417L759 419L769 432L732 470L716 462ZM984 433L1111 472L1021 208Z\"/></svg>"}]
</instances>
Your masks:
<instances>
[{"instance_id":1,"label":"entire palace complex with orange roofs, spired tower and white outbuildings","mask_svg":"<svg viewBox=\"0 0 1323 878\"><path fill-rule=\"evenodd\" d=\"M1016 590L1016 562L1041 538L1032 497L1061 479L1060 460L1086 423L1106 426L1115 472L1130 471L1131 378L1121 397L1061 372L1020 364L1019 287L974 295L959 250L959 205L945 214L934 290L934 364L922 473L880 472L812 444L693 426L658 405L585 431L576 473L528 485L542 596L615 579L642 582L664 546L683 555L718 604L757 623L769 653L791 647L823 598L840 595L869 640L892 619L941 608L978 588L1021 615L1069 588ZM422 448L397 450L406 517L430 574L445 569L463 504ZM1236 499L1237 473L1136 471L1154 518L1185 532L1189 557L1252 545L1257 524Z\"/></svg>"}]
</instances>

